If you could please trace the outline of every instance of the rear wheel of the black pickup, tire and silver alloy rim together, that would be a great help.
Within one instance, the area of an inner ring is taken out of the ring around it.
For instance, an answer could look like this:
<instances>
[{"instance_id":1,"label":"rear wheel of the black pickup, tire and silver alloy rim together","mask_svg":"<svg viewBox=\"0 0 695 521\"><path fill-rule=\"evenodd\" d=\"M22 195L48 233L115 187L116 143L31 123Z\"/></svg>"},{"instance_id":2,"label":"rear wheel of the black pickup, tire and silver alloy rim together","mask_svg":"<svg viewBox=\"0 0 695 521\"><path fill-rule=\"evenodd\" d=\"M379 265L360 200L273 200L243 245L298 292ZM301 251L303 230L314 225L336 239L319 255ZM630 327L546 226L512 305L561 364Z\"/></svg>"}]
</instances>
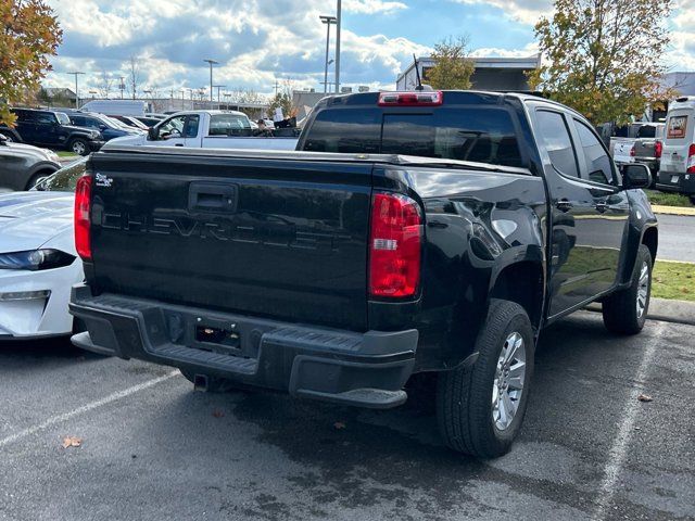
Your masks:
<instances>
[{"instance_id":1,"label":"rear wheel of the black pickup, tire and silver alloy rim together","mask_svg":"<svg viewBox=\"0 0 695 521\"><path fill-rule=\"evenodd\" d=\"M526 310L493 300L475 351L472 366L439 374L439 429L454 450L495 458L511 448L526 414L534 356Z\"/></svg>"}]
</instances>

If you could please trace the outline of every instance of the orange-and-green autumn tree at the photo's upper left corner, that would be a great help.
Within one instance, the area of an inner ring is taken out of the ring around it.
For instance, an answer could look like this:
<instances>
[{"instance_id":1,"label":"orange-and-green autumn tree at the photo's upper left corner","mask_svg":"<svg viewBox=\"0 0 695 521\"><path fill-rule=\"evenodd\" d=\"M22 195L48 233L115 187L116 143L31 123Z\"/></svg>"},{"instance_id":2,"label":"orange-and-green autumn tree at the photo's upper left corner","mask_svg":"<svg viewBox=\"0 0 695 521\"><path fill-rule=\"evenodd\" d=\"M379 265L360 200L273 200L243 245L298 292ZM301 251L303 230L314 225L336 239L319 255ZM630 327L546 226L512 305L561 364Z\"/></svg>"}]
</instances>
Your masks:
<instances>
[{"instance_id":1,"label":"orange-and-green autumn tree at the photo's upper left corner","mask_svg":"<svg viewBox=\"0 0 695 521\"><path fill-rule=\"evenodd\" d=\"M0 123L12 125L10 105L38 90L62 31L42 0L0 0Z\"/></svg>"}]
</instances>

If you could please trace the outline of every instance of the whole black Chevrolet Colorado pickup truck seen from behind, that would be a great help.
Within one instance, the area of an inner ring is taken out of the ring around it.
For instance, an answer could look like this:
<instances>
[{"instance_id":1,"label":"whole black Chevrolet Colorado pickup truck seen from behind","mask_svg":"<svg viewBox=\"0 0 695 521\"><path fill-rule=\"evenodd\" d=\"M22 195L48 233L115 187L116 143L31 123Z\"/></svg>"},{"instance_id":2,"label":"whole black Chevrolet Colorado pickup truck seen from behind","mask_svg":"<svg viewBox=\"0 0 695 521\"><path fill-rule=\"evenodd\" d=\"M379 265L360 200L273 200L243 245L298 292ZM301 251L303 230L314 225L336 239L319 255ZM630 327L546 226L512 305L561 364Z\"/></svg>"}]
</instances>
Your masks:
<instances>
[{"instance_id":1,"label":"whole black Chevrolet Colorado pickup truck seen from behind","mask_svg":"<svg viewBox=\"0 0 695 521\"><path fill-rule=\"evenodd\" d=\"M589 303L642 330L657 221L553 102L467 91L327 98L296 152L111 149L76 192L73 342L372 408L437 372L444 441L508 450L541 330Z\"/></svg>"}]
</instances>

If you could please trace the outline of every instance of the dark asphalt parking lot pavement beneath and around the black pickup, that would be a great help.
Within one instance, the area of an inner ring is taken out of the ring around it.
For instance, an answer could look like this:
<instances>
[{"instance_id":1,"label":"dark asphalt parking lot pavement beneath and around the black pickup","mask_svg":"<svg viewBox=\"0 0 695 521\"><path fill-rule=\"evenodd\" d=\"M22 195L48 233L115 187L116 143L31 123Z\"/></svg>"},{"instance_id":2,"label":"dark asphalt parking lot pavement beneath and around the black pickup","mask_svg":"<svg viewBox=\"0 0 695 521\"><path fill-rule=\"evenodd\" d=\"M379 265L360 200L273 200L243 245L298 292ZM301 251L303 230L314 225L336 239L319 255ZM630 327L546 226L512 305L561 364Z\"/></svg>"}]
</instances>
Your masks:
<instances>
[{"instance_id":1,"label":"dark asphalt parking lot pavement beneath and around the black pickup","mask_svg":"<svg viewBox=\"0 0 695 521\"><path fill-rule=\"evenodd\" d=\"M443 448L417 401L197 393L169 368L3 344L0 519L695 519L693 338L616 338L589 313L551 328L521 437L492 462Z\"/></svg>"}]
</instances>

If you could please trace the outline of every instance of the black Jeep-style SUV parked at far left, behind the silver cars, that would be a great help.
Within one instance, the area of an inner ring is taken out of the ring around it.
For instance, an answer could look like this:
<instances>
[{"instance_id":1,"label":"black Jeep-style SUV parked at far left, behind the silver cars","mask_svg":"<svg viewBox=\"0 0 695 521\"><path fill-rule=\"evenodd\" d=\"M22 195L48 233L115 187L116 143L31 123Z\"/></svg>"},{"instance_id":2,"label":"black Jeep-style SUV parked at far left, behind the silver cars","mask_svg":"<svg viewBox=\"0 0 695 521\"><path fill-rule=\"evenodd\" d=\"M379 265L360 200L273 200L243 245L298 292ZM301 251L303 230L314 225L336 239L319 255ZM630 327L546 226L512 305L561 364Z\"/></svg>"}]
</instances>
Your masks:
<instances>
[{"instance_id":1,"label":"black Jeep-style SUV parked at far left, behind the silver cars","mask_svg":"<svg viewBox=\"0 0 695 521\"><path fill-rule=\"evenodd\" d=\"M104 141L98 130L71 125L63 112L12 109L17 116L14 128L0 126L0 134L11 141L68 150L79 155L101 149Z\"/></svg>"}]
</instances>

